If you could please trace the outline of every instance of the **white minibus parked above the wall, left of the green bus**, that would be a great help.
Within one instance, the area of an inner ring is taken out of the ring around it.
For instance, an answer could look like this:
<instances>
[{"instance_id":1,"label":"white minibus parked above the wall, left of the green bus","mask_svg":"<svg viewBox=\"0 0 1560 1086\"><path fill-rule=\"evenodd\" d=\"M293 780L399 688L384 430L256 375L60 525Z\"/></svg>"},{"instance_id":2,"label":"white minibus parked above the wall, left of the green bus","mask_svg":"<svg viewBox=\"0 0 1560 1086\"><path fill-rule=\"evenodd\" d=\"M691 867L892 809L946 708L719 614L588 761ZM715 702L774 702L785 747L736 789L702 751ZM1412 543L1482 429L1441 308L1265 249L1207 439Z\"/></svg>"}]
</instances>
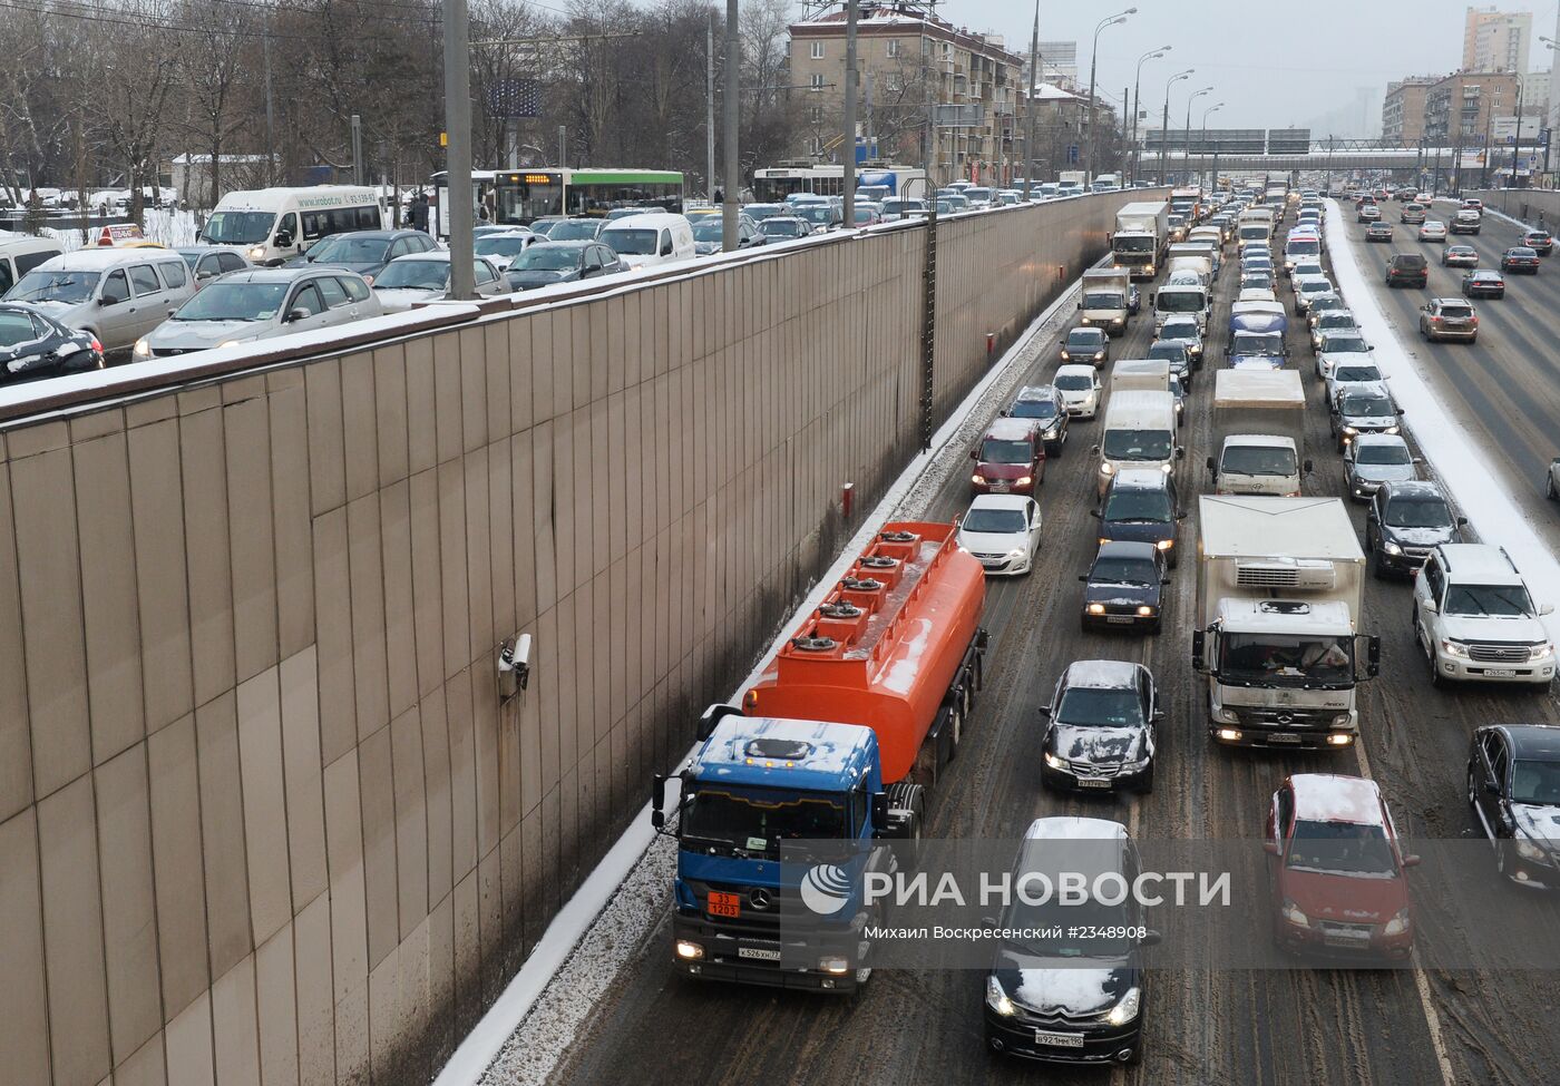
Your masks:
<instances>
[{"instance_id":1,"label":"white minibus parked above the wall, left of the green bus","mask_svg":"<svg viewBox=\"0 0 1560 1086\"><path fill-rule=\"evenodd\" d=\"M217 201L200 240L240 250L251 264L282 264L331 234L384 229L385 198L376 189L317 184L307 189L229 192Z\"/></svg>"}]
</instances>

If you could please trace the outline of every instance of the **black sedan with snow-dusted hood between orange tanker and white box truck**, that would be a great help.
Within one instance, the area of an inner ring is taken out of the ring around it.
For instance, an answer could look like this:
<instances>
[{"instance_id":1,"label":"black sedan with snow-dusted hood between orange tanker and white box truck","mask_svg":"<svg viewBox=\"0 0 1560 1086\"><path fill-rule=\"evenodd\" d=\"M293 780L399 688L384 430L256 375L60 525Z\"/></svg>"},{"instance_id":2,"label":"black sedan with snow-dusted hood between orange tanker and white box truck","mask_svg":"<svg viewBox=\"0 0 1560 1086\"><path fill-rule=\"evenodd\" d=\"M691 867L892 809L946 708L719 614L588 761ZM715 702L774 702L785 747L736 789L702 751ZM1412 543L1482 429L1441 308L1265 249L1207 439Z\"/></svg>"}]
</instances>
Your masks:
<instances>
[{"instance_id":1,"label":"black sedan with snow-dusted hood between orange tanker and white box truck","mask_svg":"<svg viewBox=\"0 0 1560 1086\"><path fill-rule=\"evenodd\" d=\"M1076 791L1153 791L1154 730L1164 712L1140 663L1076 660L1056 682L1041 783Z\"/></svg>"}]
</instances>

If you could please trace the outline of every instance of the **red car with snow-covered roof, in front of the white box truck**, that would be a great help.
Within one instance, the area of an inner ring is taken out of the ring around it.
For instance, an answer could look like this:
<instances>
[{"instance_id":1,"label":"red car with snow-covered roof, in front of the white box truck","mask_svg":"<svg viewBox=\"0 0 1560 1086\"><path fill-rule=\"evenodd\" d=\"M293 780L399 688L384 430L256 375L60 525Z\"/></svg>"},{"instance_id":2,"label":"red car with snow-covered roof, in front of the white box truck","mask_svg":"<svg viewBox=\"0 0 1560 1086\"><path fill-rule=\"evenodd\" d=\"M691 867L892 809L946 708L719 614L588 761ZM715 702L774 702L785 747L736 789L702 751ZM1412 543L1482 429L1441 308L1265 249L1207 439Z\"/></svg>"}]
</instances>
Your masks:
<instances>
[{"instance_id":1,"label":"red car with snow-covered roof, in front of the white box truck","mask_svg":"<svg viewBox=\"0 0 1560 1086\"><path fill-rule=\"evenodd\" d=\"M1406 958L1413 911L1398 830L1374 780L1298 772L1267 819L1273 941L1285 950Z\"/></svg>"}]
</instances>

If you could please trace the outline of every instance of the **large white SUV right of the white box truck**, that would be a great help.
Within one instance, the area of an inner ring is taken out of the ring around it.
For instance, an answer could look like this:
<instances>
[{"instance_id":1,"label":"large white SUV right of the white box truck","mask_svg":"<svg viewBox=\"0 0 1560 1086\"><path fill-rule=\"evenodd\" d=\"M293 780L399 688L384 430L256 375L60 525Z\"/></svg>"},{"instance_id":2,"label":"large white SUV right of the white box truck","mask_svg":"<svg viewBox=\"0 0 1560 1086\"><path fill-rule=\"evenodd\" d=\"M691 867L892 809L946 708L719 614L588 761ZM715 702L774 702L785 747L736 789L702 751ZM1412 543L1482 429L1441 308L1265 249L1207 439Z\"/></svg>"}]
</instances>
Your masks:
<instances>
[{"instance_id":1,"label":"large white SUV right of the white box truck","mask_svg":"<svg viewBox=\"0 0 1560 1086\"><path fill-rule=\"evenodd\" d=\"M1546 685L1555 646L1505 548L1443 543L1413 579L1413 635L1431 663L1431 682L1451 679Z\"/></svg>"}]
</instances>

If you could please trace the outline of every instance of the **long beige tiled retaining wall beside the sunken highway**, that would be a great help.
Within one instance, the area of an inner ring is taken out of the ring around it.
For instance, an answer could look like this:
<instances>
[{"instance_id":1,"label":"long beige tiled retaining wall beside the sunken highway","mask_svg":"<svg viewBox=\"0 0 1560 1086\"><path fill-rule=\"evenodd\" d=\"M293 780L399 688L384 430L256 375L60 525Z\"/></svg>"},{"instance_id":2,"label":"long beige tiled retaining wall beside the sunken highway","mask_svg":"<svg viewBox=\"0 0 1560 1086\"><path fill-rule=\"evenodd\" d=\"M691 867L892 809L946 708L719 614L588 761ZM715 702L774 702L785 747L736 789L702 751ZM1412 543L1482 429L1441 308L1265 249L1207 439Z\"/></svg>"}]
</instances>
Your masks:
<instances>
[{"instance_id":1,"label":"long beige tiled retaining wall beside the sunken highway","mask_svg":"<svg viewBox=\"0 0 1560 1086\"><path fill-rule=\"evenodd\" d=\"M941 226L939 418L1125 198ZM426 1081L914 454L924 253L12 410L6 1081Z\"/></svg>"}]
</instances>

